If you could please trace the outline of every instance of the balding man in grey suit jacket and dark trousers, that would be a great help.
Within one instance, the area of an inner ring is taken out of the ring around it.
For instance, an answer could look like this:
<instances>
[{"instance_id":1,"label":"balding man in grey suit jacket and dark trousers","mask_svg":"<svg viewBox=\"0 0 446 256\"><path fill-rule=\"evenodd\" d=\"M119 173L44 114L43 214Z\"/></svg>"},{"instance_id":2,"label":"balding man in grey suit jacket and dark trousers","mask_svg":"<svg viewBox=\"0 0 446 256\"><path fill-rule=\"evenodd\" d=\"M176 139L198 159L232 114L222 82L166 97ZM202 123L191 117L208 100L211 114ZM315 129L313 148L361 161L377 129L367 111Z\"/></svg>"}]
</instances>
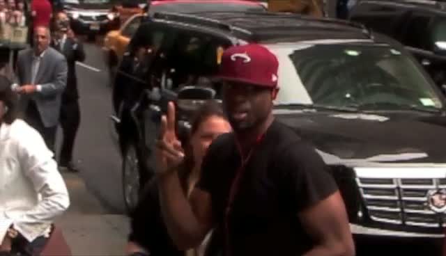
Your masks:
<instances>
[{"instance_id":1,"label":"balding man in grey suit jacket and dark trousers","mask_svg":"<svg viewBox=\"0 0 446 256\"><path fill-rule=\"evenodd\" d=\"M20 51L17 58L13 89L21 95L20 110L24 120L40 132L54 152L68 67L65 56L49 47L50 41L49 29L36 27L34 47Z\"/></svg>"}]
</instances>

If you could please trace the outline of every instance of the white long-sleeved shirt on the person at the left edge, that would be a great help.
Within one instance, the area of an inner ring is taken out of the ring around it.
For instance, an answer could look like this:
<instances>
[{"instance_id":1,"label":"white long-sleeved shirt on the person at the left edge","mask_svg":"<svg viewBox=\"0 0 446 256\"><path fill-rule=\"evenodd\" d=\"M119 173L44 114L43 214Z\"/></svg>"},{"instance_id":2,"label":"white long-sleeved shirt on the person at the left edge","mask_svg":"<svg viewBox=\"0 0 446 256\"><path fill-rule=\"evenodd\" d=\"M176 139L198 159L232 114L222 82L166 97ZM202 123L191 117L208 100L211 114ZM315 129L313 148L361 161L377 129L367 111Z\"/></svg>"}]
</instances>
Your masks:
<instances>
[{"instance_id":1,"label":"white long-sleeved shirt on the person at the left edge","mask_svg":"<svg viewBox=\"0 0 446 256\"><path fill-rule=\"evenodd\" d=\"M0 126L0 241L13 225L28 241L49 233L70 199L53 153L23 120Z\"/></svg>"}]
</instances>

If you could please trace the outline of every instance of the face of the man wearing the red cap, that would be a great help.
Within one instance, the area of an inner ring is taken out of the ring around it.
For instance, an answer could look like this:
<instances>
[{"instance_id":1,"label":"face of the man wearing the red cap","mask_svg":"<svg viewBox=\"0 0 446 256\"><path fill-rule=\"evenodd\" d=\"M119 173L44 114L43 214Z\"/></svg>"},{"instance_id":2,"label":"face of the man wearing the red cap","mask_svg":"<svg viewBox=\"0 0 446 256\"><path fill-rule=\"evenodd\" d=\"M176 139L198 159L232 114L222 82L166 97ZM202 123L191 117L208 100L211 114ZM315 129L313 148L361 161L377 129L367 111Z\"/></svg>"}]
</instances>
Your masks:
<instances>
[{"instance_id":1,"label":"face of the man wearing the red cap","mask_svg":"<svg viewBox=\"0 0 446 256\"><path fill-rule=\"evenodd\" d=\"M272 90L245 83L224 82L223 104L234 131L261 124L272 109Z\"/></svg>"}]
</instances>

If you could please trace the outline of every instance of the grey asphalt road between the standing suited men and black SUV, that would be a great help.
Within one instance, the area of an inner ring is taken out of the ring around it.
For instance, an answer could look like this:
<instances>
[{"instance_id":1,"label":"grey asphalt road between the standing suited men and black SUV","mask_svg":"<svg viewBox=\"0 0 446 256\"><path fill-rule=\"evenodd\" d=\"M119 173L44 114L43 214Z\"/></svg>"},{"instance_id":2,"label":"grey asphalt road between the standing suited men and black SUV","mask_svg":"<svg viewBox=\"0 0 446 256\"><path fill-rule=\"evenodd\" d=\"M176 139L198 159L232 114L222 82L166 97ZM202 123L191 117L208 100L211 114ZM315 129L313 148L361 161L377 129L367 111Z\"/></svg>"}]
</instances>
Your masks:
<instances>
[{"instance_id":1,"label":"grey asphalt road between the standing suited men and black SUV","mask_svg":"<svg viewBox=\"0 0 446 256\"><path fill-rule=\"evenodd\" d=\"M81 125L74 157L80 177L113 214L125 212L121 185L121 155L112 138L112 90L101 48L86 44L86 61L77 65Z\"/></svg>"}]
</instances>

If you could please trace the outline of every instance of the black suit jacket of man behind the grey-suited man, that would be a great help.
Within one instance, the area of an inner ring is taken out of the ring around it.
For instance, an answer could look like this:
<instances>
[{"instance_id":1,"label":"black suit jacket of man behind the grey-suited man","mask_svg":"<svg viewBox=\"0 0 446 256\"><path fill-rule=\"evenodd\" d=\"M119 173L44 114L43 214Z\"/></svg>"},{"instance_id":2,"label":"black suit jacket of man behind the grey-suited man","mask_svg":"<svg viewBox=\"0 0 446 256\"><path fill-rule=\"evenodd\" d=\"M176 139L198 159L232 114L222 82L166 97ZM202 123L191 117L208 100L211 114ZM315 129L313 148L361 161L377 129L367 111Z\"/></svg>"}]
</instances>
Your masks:
<instances>
[{"instance_id":1,"label":"black suit jacket of man behind the grey-suited man","mask_svg":"<svg viewBox=\"0 0 446 256\"><path fill-rule=\"evenodd\" d=\"M52 42L52 47L66 57L68 65L67 87L63 90L62 104L72 102L79 99L79 91L77 90L76 61L83 62L85 60L84 45L82 42L75 42L71 38L67 38L63 49L58 41Z\"/></svg>"}]
</instances>

